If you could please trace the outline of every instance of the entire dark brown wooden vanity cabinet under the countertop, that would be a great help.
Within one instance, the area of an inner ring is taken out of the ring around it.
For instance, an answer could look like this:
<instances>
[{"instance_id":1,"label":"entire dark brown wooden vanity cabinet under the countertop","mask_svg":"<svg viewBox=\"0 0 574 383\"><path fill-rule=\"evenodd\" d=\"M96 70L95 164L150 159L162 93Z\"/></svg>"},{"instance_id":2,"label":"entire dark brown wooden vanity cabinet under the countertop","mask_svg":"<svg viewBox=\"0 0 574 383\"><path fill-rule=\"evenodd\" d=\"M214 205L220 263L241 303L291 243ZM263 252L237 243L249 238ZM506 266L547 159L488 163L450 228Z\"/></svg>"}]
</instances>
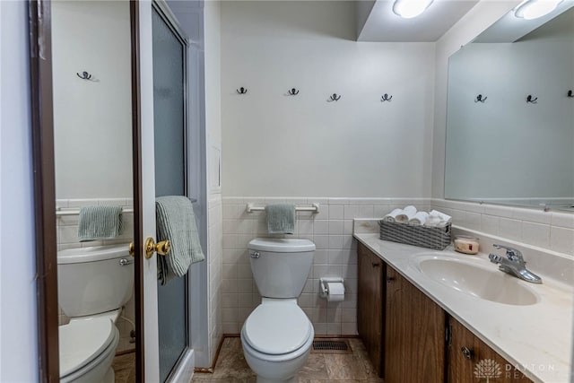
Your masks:
<instances>
[{"instance_id":1,"label":"entire dark brown wooden vanity cabinet under the countertop","mask_svg":"<svg viewBox=\"0 0 574 383\"><path fill-rule=\"evenodd\" d=\"M531 382L361 242L357 253L357 329L387 383Z\"/></svg>"}]
</instances>

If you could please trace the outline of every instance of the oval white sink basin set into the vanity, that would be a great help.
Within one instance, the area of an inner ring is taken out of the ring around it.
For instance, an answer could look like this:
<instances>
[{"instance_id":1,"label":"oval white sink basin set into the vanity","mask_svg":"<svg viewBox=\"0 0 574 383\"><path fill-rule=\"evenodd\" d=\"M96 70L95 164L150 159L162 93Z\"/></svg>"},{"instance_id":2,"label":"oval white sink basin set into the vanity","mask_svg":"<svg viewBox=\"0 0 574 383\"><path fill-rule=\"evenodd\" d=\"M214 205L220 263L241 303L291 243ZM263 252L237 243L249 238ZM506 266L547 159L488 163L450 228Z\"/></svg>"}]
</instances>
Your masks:
<instances>
[{"instance_id":1,"label":"oval white sink basin set into the vanity","mask_svg":"<svg viewBox=\"0 0 574 383\"><path fill-rule=\"evenodd\" d=\"M483 259L422 253L413 257L411 264L427 278L483 300L518 306L533 305L539 300L525 282Z\"/></svg>"}]
</instances>

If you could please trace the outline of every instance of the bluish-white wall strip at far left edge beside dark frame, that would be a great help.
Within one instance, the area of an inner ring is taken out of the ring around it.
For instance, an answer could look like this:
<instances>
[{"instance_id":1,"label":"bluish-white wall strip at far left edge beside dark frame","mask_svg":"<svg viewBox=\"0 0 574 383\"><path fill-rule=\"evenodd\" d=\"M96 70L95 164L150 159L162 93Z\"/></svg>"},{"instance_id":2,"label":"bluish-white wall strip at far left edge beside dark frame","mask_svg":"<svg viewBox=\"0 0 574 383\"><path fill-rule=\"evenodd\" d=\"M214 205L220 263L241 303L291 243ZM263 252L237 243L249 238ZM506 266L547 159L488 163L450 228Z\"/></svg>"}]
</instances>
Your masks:
<instances>
[{"instance_id":1,"label":"bluish-white wall strip at far left edge beside dark frame","mask_svg":"<svg viewBox=\"0 0 574 383\"><path fill-rule=\"evenodd\" d=\"M0 2L0 381L38 381L28 3ZM14 251L13 244L17 245Z\"/></svg>"}]
</instances>

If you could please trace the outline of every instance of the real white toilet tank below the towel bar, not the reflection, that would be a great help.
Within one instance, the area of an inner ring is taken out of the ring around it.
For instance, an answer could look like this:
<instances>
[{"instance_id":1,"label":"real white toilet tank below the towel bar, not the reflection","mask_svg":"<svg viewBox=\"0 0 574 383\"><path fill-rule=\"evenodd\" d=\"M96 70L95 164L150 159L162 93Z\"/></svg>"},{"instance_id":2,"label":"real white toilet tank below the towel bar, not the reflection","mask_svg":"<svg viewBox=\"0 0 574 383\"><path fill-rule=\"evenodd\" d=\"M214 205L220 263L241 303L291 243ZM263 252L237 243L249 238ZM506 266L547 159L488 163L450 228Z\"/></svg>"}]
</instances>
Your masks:
<instances>
[{"instance_id":1,"label":"real white toilet tank below the towel bar, not the reflection","mask_svg":"<svg viewBox=\"0 0 574 383\"><path fill-rule=\"evenodd\" d=\"M261 296L298 298L313 264L315 244L309 239L252 239L251 271Z\"/></svg>"}]
</instances>

